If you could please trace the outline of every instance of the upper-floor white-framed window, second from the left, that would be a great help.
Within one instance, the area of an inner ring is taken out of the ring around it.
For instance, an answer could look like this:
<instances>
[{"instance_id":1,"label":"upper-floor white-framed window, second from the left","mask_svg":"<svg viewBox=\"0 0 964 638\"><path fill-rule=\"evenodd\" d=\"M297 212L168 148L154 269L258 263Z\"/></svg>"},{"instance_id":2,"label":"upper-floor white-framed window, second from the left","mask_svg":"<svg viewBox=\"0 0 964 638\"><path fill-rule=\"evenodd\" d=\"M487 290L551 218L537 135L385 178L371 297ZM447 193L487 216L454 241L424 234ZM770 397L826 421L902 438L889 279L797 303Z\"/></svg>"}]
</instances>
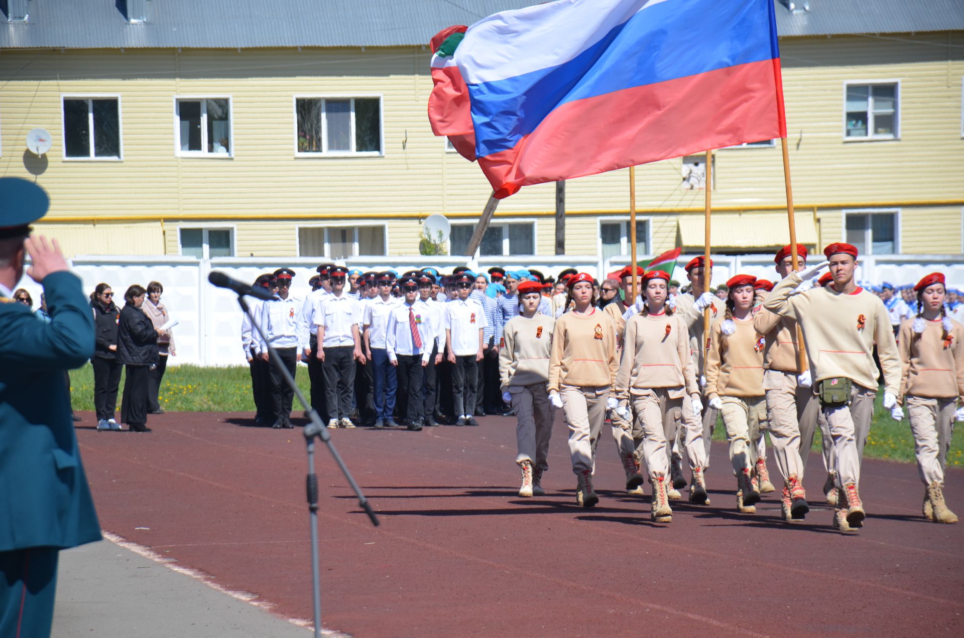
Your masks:
<instances>
[{"instance_id":1,"label":"upper-floor white-framed window, second from the left","mask_svg":"<svg viewBox=\"0 0 964 638\"><path fill-rule=\"evenodd\" d=\"M177 155L231 157L231 100L228 97L178 99Z\"/></svg>"}]
</instances>

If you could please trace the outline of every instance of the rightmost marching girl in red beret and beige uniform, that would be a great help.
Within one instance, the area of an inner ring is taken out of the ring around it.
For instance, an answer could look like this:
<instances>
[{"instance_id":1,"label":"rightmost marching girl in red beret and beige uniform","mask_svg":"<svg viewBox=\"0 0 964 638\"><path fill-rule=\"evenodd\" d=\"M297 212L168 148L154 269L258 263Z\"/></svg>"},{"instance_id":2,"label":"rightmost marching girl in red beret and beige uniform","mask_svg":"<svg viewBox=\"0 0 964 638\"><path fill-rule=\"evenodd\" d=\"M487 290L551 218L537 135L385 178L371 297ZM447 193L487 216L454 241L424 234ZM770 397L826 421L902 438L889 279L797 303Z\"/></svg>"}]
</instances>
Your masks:
<instances>
[{"instance_id":1,"label":"rightmost marching girl in red beret and beige uniform","mask_svg":"<svg viewBox=\"0 0 964 638\"><path fill-rule=\"evenodd\" d=\"M957 522L944 500L944 467L955 421L964 421L964 326L947 315L944 275L931 273L917 291L917 316L900 326L900 395L910 412L917 469L924 482L924 518ZM903 418L897 406L892 416Z\"/></svg>"}]
</instances>

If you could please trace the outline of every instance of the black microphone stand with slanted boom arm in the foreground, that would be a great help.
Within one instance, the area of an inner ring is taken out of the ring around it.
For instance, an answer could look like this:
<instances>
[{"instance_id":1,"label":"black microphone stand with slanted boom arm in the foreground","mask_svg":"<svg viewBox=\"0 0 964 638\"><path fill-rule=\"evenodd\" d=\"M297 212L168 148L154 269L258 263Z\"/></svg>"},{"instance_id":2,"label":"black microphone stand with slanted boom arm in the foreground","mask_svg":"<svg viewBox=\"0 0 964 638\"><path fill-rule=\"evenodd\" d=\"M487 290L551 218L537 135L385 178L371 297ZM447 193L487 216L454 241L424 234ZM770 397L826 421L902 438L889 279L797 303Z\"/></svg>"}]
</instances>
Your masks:
<instances>
[{"instance_id":1,"label":"black microphone stand with slanted boom arm in the foreground","mask_svg":"<svg viewBox=\"0 0 964 638\"><path fill-rule=\"evenodd\" d=\"M261 330L261 325L254 320L254 315L251 313L251 309L248 307L248 303L244 300L244 295L238 295L238 305L248 318L251 320L251 325L254 330L261 335L261 339L268 344L268 358L271 360L271 364L281 372L281 377L292 390L294 390L295 396L305 407L305 415L308 416L308 425L305 426L305 430L302 434L305 435L305 442L308 445L308 478L306 480L306 488L308 491L308 518L311 521L311 602L314 605L314 635L315 638L321 638L321 578L318 570L318 476L314 473L314 439L317 437L321 439L325 445L328 446L328 451L332 453L332 457L335 459L335 463L338 468L341 469L341 473L345 475L348 479L348 485L351 486L352 490L355 491L355 495L359 498L359 505L362 506L365 514L371 520L371 524L378 527L379 520L375 516L375 512L372 511L371 505L368 504L368 499L364 497L362 489L352 478L352 473L348 471L348 467L345 462L341 460L341 455L335 449L335 444L332 442L332 435L328 433L325 428L324 423L321 421L321 417L318 416L318 412L314 411L314 408L308 405L308 401L305 399L305 395L302 394L301 389L298 384L295 383L294 378L288 372L288 369L284 367L284 362L281 361L278 353L271 344L268 343L268 336Z\"/></svg>"}]
</instances>

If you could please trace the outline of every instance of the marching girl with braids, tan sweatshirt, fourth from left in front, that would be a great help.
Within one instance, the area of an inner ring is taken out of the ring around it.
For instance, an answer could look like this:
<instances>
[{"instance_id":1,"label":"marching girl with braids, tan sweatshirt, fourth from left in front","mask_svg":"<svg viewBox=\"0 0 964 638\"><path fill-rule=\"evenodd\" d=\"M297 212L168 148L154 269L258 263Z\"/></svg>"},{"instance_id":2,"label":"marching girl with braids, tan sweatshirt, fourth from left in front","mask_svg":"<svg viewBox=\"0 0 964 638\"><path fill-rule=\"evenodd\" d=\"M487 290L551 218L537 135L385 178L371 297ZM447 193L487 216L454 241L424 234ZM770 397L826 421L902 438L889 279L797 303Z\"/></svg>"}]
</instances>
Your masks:
<instances>
[{"instance_id":1,"label":"marching girl with braids, tan sweatshirt, fourth from left in front","mask_svg":"<svg viewBox=\"0 0 964 638\"><path fill-rule=\"evenodd\" d=\"M730 443L730 462L736 474L736 509L753 514L760 502L755 481L757 439L766 420L763 392L763 335L753 327L754 288L757 278L737 275L727 281L729 291L723 321L710 331L707 359L707 396L719 410Z\"/></svg>"}]
</instances>

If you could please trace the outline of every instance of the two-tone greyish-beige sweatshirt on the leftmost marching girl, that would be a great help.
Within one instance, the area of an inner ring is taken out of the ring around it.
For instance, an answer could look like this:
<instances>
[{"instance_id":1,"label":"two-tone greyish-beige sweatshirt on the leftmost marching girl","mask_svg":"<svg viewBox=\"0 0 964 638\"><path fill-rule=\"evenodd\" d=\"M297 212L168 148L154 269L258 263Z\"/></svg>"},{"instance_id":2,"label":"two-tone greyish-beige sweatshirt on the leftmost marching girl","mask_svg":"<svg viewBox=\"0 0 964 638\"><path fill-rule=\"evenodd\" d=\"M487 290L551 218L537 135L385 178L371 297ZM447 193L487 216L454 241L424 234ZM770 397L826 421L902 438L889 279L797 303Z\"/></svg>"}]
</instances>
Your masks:
<instances>
[{"instance_id":1,"label":"two-tone greyish-beige sweatshirt on the leftmost marching girl","mask_svg":"<svg viewBox=\"0 0 964 638\"><path fill-rule=\"evenodd\" d=\"M502 329L503 347L498 351L498 376L501 390L509 385L545 384L549 380L549 351L555 320L536 312L509 319Z\"/></svg>"}]
</instances>

